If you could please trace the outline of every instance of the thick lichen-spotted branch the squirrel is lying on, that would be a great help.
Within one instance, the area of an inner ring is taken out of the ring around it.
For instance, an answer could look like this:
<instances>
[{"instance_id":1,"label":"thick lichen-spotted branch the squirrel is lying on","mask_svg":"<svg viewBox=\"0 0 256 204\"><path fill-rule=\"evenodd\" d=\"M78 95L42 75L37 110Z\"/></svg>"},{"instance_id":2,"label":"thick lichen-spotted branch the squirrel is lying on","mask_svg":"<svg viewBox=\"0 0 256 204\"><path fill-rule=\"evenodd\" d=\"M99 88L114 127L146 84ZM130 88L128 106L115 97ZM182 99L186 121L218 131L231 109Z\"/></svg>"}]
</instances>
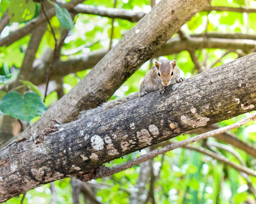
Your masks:
<instances>
[{"instance_id":1,"label":"thick lichen-spotted branch the squirrel is lying on","mask_svg":"<svg viewBox=\"0 0 256 204\"><path fill-rule=\"evenodd\" d=\"M18 139L0 150L0 202L61 178L93 179L110 160L256 110L255 57L190 77L164 95L153 92Z\"/></svg>"}]
</instances>

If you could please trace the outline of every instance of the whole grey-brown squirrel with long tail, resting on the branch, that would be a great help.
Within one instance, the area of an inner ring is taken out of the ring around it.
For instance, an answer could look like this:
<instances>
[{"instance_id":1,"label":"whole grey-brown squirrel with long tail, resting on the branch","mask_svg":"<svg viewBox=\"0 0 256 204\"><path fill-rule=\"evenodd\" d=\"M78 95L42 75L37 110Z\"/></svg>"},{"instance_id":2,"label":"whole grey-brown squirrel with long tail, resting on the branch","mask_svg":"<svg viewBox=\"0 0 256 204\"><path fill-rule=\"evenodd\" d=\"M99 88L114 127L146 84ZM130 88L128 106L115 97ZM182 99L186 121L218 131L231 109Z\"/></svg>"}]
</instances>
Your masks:
<instances>
[{"instance_id":1,"label":"whole grey-brown squirrel with long tail, resting on the branch","mask_svg":"<svg viewBox=\"0 0 256 204\"><path fill-rule=\"evenodd\" d=\"M143 97L153 91L159 94L165 92L165 87L174 83L180 83L184 80L180 77L180 68L175 60L160 60L155 62L155 66L149 70L140 85L140 91L132 93L124 98L102 103L100 106L88 110L81 111L78 118L92 116L94 114L106 111L107 109L116 107L127 101L131 101L137 97Z\"/></svg>"}]
</instances>

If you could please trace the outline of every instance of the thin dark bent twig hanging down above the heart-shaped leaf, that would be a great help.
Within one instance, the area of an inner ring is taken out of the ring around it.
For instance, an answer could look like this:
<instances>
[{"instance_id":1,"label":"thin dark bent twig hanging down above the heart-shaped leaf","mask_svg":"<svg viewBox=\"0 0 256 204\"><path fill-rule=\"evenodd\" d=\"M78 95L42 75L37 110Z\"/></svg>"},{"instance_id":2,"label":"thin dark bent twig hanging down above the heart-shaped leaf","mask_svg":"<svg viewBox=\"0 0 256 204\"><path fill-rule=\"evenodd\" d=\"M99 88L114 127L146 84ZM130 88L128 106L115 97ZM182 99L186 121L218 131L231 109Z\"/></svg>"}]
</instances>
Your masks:
<instances>
[{"instance_id":1,"label":"thin dark bent twig hanging down above the heart-shaped leaf","mask_svg":"<svg viewBox=\"0 0 256 204\"><path fill-rule=\"evenodd\" d=\"M54 29L52 27L52 24L50 23L50 19L49 17L47 16L46 14L46 11L44 9L44 4L43 4L43 0L40 1L41 2L41 7L42 7L42 10L43 10L43 13L48 21L48 24L50 26L50 29L52 30L52 34L53 34L53 37L54 37L54 41L55 41L55 45L54 45L54 52L53 52L53 57L52 57L52 61L49 65L49 68L47 69L47 74L46 74L46 82L45 82L45 93L44 93L44 100L47 96L47 89L48 89L48 86L49 86L49 81L50 81L50 75L51 75L51 72L52 72L52 67L53 67L53 62L55 60L55 57L56 57L56 54L57 54L57 51L58 51L58 40L56 38L56 35L55 35L55 32L54 32Z\"/></svg>"}]
</instances>

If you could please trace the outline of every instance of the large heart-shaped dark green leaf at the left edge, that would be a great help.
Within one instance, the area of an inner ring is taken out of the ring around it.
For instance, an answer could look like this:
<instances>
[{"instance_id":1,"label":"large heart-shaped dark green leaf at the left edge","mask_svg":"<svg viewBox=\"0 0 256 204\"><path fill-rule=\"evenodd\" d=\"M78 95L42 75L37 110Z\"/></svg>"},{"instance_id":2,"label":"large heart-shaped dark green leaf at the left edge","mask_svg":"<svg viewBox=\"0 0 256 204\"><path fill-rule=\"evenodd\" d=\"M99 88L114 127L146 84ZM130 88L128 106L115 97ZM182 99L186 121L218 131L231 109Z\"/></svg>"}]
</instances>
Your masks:
<instances>
[{"instance_id":1,"label":"large heart-shaped dark green leaf at the left edge","mask_svg":"<svg viewBox=\"0 0 256 204\"><path fill-rule=\"evenodd\" d=\"M41 116L47 107L37 93L27 92L22 96L19 92L11 91L2 98L0 109L10 117L29 123L33 118Z\"/></svg>"}]
</instances>

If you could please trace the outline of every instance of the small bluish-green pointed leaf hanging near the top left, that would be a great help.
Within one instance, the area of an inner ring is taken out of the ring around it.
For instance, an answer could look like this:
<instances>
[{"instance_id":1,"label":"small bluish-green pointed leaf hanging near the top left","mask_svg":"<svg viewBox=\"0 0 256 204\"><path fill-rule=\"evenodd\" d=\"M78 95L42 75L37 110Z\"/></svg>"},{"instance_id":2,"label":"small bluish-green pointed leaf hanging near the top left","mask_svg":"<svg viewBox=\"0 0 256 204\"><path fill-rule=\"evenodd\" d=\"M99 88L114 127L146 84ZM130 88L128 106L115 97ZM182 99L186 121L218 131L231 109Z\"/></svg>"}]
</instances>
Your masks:
<instances>
[{"instance_id":1,"label":"small bluish-green pointed leaf hanging near the top left","mask_svg":"<svg viewBox=\"0 0 256 204\"><path fill-rule=\"evenodd\" d=\"M55 4L56 16L64 29L72 29L74 24L71 15L67 9L62 9L58 4Z\"/></svg>"}]
</instances>

